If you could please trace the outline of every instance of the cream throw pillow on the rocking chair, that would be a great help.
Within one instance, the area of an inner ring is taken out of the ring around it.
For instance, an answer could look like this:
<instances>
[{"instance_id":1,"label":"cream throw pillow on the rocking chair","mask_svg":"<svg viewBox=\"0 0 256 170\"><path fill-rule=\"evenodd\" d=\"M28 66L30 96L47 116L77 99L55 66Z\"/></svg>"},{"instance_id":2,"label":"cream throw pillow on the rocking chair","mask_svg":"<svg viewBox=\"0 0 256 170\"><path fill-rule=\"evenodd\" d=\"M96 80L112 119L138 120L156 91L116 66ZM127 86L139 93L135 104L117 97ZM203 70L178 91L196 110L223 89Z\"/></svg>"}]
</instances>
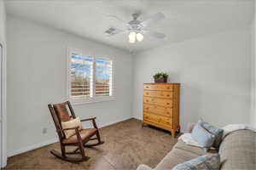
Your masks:
<instances>
[{"instance_id":1,"label":"cream throw pillow on the rocking chair","mask_svg":"<svg viewBox=\"0 0 256 170\"><path fill-rule=\"evenodd\" d=\"M73 127L79 127L79 130L82 129L82 123L80 121L80 118L77 117L75 119L71 119L70 121L67 122L61 122L62 128L73 128ZM65 130L64 131L66 138L68 139L69 137L73 136L73 134L76 133L75 129L72 130Z\"/></svg>"}]
</instances>

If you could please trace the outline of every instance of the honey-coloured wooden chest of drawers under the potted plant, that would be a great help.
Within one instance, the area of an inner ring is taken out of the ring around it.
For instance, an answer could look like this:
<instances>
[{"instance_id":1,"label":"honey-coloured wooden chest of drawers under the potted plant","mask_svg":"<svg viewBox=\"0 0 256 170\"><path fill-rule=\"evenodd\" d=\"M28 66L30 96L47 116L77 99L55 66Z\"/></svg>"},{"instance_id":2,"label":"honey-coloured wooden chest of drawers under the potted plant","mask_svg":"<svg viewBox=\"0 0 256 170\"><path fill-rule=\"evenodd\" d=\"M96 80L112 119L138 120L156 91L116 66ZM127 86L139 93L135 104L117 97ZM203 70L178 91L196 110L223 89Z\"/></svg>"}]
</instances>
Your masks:
<instances>
[{"instance_id":1,"label":"honey-coloured wooden chest of drawers under the potted plant","mask_svg":"<svg viewBox=\"0 0 256 170\"><path fill-rule=\"evenodd\" d=\"M175 136L179 131L179 83L145 83L143 124L166 129Z\"/></svg>"}]
</instances>

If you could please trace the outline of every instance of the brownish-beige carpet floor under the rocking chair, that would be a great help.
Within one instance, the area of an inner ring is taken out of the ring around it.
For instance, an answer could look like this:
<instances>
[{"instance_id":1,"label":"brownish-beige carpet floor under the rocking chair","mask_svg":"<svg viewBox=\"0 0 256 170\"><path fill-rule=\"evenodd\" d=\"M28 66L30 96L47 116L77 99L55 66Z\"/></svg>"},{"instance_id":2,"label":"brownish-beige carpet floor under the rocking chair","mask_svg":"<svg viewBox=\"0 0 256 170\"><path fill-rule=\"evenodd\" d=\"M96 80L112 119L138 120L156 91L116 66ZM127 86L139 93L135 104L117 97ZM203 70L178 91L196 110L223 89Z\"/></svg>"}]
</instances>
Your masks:
<instances>
[{"instance_id":1,"label":"brownish-beige carpet floor under the rocking chair","mask_svg":"<svg viewBox=\"0 0 256 170\"><path fill-rule=\"evenodd\" d=\"M155 167L177 143L170 133L155 127L142 127L142 122L130 119L101 128L105 144L85 149L89 161L71 163L61 161L49 153L59 150L50 144L8 159L3 169L136 169L139 164Z\"/></svg>"}]
</instances>

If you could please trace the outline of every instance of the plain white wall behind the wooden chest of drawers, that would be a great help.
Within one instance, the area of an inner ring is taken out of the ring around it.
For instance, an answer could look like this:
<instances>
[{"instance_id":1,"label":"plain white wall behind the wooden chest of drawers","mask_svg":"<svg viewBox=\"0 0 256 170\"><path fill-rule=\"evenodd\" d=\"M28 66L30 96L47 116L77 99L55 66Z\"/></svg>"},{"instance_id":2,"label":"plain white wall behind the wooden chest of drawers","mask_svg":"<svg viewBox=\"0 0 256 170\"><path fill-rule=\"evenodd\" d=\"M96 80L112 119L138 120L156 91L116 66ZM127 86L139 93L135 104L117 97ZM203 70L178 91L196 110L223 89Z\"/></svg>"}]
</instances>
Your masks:
<instances>
[{"instance_id":1,"label":"plain white wall behind the wooden chest of drawers","mask_svg":"<svg viewBox=\"0 0 256 170\"><path fill-rule=\"evenodd\" d=\"M203 118L216 126L250 122L251 27L155 48L134 60L133 114L143 117L143 83L166 71L171 82L182 83L180 122Z\"/></svg>"}]
</instances>

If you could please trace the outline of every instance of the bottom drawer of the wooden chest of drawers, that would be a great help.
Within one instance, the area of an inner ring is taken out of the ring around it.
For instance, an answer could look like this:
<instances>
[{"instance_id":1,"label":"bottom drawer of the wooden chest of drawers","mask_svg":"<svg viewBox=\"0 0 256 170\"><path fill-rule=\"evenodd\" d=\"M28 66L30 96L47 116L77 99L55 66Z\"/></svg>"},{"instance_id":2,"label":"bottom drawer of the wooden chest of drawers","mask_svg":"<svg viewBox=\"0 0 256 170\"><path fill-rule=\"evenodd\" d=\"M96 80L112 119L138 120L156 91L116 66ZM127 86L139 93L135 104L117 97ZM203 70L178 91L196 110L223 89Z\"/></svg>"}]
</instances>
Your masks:
<instances>
[{"instance_id":1,"label":"bottom drawer of the wooden chest of drawers","mask_svg":"<svg viewBox=\"0 0 256 170\"><path fill-rule=\"evenodd\" d=\"M154 122L156 124L159 124L165 127L172 127L171 117L159 116L159 115L154 115L148 112L144 112L143 120L146 122Z\"/></svg>"}]
</instances>

